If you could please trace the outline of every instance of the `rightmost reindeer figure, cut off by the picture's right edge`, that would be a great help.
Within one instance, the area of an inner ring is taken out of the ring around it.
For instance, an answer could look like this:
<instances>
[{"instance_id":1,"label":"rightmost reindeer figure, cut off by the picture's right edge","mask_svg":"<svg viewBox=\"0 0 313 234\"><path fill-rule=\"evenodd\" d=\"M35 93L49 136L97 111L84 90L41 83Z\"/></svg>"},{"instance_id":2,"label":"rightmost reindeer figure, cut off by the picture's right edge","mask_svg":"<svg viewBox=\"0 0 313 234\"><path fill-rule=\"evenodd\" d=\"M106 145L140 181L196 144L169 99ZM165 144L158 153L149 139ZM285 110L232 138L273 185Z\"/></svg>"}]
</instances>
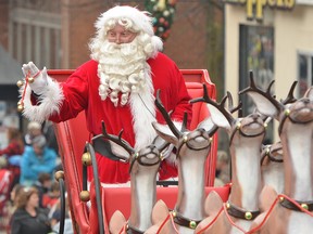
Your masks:
<instances>
[{"instance_id":1,"label":"rightmost reindeer figure, cut off by the picture's right edge","mask_svg":"<svg viewBox=\"0 0 313 234\"><path fill-rule=\"evenodd\" d=\"M286 100L293 100L291 86ZM260 233L311 233L313 230L313 87L300 100L278 102L268 91L254 84L243 90L263 115L279 121L278 133L284 152L285 187L277 193L265 186L261 204L266 212L255 220ZM284 104L288 103L288 104ZM279 202L279 205L276 203ZM311 211L311 212L310 212ZM278 218L279 217L279 218Z\"/></svg>"}]
</instances>

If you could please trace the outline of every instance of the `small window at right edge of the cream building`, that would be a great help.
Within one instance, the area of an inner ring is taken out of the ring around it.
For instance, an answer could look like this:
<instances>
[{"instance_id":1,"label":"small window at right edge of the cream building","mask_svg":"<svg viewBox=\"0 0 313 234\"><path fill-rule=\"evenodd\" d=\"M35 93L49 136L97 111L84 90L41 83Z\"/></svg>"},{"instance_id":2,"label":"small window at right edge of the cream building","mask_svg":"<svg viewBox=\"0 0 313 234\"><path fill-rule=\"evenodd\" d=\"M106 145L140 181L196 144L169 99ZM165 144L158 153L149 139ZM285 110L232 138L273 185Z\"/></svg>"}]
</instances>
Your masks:
<instances>
[{"instance_id":1,"label":"small window at right edge of the cream building","mask_svg":"<svg viewBox=\"0 0 313 234\"><path fill-rule=\"evenodd\" d=\"M298 98L313 84L313 52L298 52Z\"/></svg>"}]
</instances>

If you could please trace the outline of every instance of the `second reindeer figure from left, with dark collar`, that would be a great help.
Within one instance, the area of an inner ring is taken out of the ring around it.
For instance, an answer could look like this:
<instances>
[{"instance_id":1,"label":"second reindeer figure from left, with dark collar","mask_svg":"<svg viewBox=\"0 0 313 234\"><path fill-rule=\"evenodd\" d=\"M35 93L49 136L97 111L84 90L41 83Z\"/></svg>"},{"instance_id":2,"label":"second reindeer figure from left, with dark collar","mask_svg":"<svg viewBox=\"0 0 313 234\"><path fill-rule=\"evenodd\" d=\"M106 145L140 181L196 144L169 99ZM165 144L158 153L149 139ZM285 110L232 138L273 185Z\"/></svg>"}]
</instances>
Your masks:
<instances>
[{"instance_id":1,"label":"second reindeer figure from left, with dark collar","mask_svg":"<svg viewBox=\"0 0 313 234\"><path fill-rule=\"evenodd\" d=\"M203 86L203 99L206 99L208 90L205 86ZM226 98L224 98L223 102L225 101ZM173 217L173 223L175 225L167 222L158 233L193 233L197 224L206 216L204 212L204 165L211 146L211 138L217 130L217 127L213 125L209 117L200 122L192 131L187 129L179 131L162 105L159 99L159 92L155 104L167 126L153 122L153 127L160 136L174 144L177 148L176 157L178 167L177 202L174 211L170 214L167 211L167 216ZM238 108L233 108L234 112ZM166 217L166 207L163 203L156 205L155 210L158 211L153 213L159 218L158 225L160 227L160 219L164 220ZM163 217L161 216L162 212L165 212ZM155 233L155 230L158 229L154 226L153 231L147 233Z\"/></svg>"}]
</instances>

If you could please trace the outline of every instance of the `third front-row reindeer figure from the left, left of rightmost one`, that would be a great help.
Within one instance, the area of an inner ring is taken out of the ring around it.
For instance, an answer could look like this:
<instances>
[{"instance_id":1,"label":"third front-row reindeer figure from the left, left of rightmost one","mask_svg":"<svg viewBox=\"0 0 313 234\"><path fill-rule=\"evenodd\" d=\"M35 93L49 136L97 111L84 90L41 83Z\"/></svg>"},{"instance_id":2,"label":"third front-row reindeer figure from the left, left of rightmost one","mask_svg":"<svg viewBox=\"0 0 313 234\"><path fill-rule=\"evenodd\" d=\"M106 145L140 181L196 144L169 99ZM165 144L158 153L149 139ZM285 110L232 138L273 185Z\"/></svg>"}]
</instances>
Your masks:
<instances>
[{"instance_id":1,"label":"third front-row reindeer figure from the left, left of rightmost one","mask_svg":"<svg viewBox=\"0 0 313 234\"><path fill-rule=\"evenodd\" d=\"M196 233L245 233L260 213L261 146L265 136L263 118L252 113L245 118L234 118L224 105L206 99L213 122L229 134L231 156L231 191L228 202L209 194L209 217L196 229ZM211 211L210 211L211 209Z\"/></svg>"}]
</instances>

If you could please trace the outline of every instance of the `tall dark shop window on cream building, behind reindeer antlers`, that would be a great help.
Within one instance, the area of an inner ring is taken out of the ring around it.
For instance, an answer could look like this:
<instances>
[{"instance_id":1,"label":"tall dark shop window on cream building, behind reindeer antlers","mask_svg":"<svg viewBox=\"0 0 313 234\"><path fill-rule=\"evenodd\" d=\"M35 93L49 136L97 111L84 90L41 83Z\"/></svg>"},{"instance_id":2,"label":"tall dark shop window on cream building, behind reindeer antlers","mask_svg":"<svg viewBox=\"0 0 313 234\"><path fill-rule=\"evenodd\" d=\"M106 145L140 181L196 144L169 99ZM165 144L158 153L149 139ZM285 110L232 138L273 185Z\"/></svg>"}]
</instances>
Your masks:
<instances>
[{"instance_id":1,"label":"tall dark shop window on cream building, behind reindeer antlers","mask_svg":"<svg viewBox=\"0 0 313 234\"><path fill-rule=\"evenodd\" d=\"M266 26L240 25L239 44L239 89L250 84L249 72L253 72L255 84L266 91L274 79L274 28ZM274 88L272 87L272 91ZM251 114L255 106L248 95L240 96L242 114ZM273 121L270 122L264 142L272 142L274 138Z\"/></svg>"}]
</instances>

